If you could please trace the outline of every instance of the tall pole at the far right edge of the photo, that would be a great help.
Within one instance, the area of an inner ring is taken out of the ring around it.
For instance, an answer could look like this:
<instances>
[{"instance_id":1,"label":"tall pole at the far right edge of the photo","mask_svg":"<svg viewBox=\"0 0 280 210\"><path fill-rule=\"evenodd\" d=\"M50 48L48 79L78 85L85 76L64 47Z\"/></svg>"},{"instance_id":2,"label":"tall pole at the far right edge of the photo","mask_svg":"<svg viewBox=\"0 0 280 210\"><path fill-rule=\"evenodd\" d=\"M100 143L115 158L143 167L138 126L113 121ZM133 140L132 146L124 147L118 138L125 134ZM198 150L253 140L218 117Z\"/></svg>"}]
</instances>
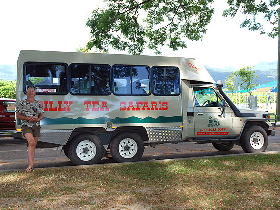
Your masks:
<instances>
[{"instance_id":1,"label":"tall pole at the far right edge of the photo","mask_svg":"<svg viewBox=\"0 0 280 210\"><path fill-rule=\"evenodd\" d=\"M277 120L280 121L280 8L278 8L278 55L277 55L277 91L276 92L277 92L276 115L277 115Z\"/></svg>"}]
</instances>

